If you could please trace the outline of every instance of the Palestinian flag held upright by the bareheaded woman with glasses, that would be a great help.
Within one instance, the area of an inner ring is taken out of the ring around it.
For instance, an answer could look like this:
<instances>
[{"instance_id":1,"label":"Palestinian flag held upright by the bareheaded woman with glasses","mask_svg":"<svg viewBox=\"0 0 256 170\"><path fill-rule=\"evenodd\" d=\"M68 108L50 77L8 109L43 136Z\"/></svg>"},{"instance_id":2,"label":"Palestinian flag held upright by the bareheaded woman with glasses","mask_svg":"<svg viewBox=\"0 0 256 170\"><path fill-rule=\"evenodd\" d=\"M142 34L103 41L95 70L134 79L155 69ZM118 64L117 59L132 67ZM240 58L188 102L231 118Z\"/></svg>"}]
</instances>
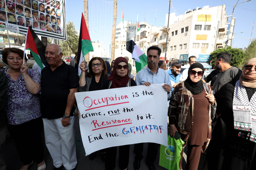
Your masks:
<instances>
[{"instance_id":1,"label":"Palestinian flag held upright by the bareheaded woman with glasses","mask_svg":"<svg viewBox=\"0 0 256 170\"><path fill-rule=\"evenodd\" d=\"M80 34L79 34L79 43L78 43L78 54L77 54L77 64L76 71L78 71L78 76L81 75L81 69L79 68L82 61L84 61L84 56L88 54L88 52L93 51L93 47L91 44L91 39L89 36L89 32L84 20L84 15L82 13L81 25L80 25Z\"/></svg>"}]
</instances>

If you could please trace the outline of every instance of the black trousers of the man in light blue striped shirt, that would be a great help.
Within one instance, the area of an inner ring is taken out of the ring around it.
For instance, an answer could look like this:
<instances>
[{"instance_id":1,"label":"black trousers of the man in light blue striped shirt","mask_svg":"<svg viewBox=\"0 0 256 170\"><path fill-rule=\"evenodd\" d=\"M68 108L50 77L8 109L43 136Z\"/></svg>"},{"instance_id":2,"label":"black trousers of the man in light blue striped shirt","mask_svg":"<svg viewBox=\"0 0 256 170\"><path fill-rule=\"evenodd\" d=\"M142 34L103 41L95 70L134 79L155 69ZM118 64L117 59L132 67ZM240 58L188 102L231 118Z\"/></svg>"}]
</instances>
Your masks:
<instances>
[{"instance_id":1,"label":"black trousers of the man in light blue striped shirt","mask_svg":"<svg viewBox=\"0 0 256 170\"><path fill-rule=\"evenodd\" d=\"M143 158L143 156L142 156L143 144L144 143L139 143L139 144L134 145L133 153L135 153L135 161L140 162ZM147 157L146 157L146 163L148 165L153 165L154 162L156 161L158 146L159 146L159 144L156 144L156 143L148 143L148 153L147 153Z\"/></svg>"}]
</instances>

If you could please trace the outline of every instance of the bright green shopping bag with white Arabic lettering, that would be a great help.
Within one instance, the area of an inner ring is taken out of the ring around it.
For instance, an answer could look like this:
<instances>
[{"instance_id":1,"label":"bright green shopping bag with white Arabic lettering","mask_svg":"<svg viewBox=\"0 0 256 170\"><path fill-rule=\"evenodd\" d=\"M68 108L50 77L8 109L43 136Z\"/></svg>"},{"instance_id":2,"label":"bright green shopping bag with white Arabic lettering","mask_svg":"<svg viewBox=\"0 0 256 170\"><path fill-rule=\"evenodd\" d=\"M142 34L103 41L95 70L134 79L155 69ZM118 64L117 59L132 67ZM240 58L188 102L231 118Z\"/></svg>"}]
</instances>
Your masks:
<instances>
[{"instance_id":1,"label":"bright green shopping bag with white Arabic lettering","mask_svg":"<svg viewBox=\"0 0 256 170\"><path fill-rule=\"evenodd\" d=\"M175 140L168 134L168 146L160 145L159 165L169 170L180 170L182 145L181 139Z\"/></svg>"}]
</instances>

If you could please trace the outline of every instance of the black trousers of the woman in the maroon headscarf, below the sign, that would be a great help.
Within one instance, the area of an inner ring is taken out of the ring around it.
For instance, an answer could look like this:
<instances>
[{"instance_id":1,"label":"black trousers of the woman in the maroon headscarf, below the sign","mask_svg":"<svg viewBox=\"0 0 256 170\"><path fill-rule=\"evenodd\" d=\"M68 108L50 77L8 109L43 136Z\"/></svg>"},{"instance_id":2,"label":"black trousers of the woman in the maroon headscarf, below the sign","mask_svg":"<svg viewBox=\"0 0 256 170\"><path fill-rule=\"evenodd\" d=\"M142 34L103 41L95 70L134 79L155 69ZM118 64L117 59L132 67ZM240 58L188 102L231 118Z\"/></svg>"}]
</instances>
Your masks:
<instances>
[{"instance_id":1,"label":"black trousers of the woman in the maroon headscarf, below the sign","mask_svg":"<svg viewBox=\"0 0 256 170\"><path fill-rule=\"evenodd\" d=\"M119 168L124 170L128 167L130 145L119 146ZM106 148L106 170L114 170L116 167L117 146Z\"/></svg>"}]
</instances>

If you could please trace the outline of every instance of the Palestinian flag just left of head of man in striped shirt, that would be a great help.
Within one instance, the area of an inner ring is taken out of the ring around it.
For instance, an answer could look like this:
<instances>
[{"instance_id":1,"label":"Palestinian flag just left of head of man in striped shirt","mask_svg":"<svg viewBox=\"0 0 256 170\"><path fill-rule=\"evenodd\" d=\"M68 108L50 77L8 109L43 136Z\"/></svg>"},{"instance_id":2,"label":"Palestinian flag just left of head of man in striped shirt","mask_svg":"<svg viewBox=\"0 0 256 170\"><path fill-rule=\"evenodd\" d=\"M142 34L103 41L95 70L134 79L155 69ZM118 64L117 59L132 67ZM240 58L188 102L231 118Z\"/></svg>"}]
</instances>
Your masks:
<instances>
[{"instance_id":1,"label":"Palestinian flag just left of head of man in striped shirt","mask_svg":"<svg viewBox=\"0 0 256 170\"><path fill-rule=\"evenodd\" d=\"M136 72L139 72L143 67L148 65L147 56L133 40L126 42L126 50L132 53L132 59L135 60Z\"/></svg>"}]
</instances>

